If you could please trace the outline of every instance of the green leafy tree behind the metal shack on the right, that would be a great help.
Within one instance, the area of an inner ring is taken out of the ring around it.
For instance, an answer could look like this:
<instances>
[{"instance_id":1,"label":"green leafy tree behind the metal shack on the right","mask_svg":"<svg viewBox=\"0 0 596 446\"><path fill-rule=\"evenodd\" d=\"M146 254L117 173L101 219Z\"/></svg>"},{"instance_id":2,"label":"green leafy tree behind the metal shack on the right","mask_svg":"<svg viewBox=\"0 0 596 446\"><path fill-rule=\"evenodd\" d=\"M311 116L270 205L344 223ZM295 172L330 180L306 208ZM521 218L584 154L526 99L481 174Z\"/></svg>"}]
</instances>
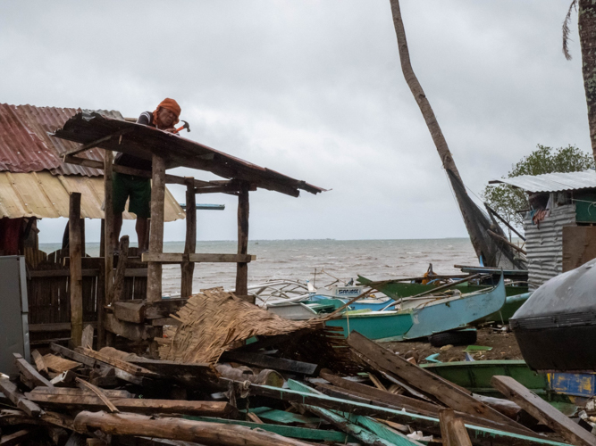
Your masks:
<instances>
[{"instance_id":1,"label":"green leafy tree behind the metal shack on the right","mask_svg":"<svg viewBox=\"0 0 596 446\"><path fill-rule=\"evenodd\" d=\"M583 153L575 145L567 147L546 147L538 145L537 149L518 161L509 170L507 178L520 175L541 175L551 172L577 172L594 168L592 155ZM483 199L499 215L515 227L522 227L524 216L516 211L528 209L530 204L527 194L521 189L500 184L486 186Z\"/></svg>"}]
</instances>

